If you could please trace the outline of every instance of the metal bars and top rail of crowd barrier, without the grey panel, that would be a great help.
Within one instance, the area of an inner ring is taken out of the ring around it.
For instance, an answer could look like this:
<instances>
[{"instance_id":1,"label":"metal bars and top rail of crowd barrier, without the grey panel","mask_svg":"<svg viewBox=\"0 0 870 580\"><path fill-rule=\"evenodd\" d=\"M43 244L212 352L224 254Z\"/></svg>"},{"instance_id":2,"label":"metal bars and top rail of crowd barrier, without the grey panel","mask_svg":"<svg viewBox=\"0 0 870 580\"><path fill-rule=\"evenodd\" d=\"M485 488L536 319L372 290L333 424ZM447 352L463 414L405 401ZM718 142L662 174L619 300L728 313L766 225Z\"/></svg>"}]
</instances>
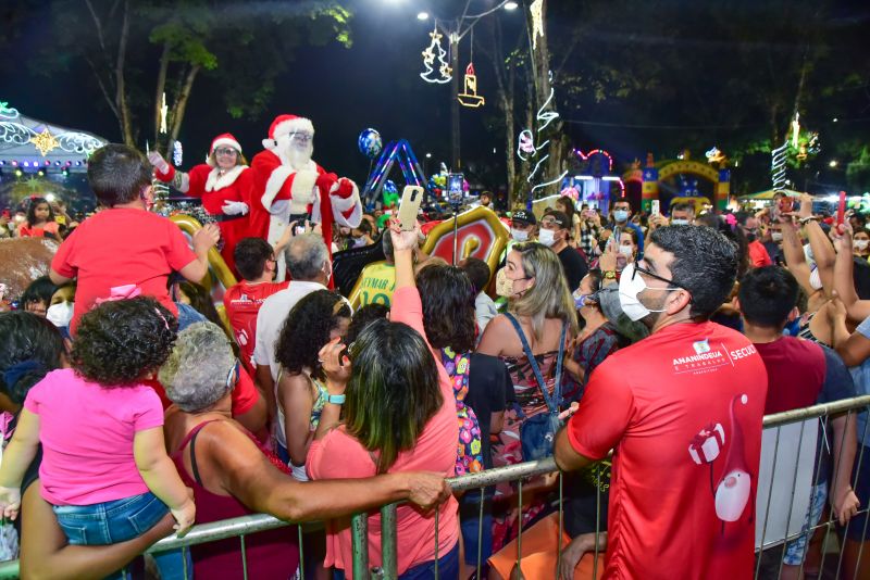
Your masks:
<instances>
[{"instance_id":1,"label":"metal bars and top rail of crowd barrier, without the grey panel","mask_svg":"<svg viewBox=\"0 0 870 580\"><path fill-rule=\"evenodd\" d=\"M775 415L768 415L763 419L763 427L765 429L773 429L776 427L782 427L785 425L803 421L806 419L811 418L823 418L823 427L826 429L828 427L828 417L832 415L841 415L844 413L848 413L848 416L853 416L853 412L862 409L862 407L870 406L870 395L862 395L856 396L853 399L847 399L843 401L836 401L833 403L825 403L820 405L813 405L810 407L805 408L797 408L792 411L786 411L783 413L778 413ZM863 408L862 411L866 411ZM801 427L803 432L803 427ZM860 453L857 454L855 463L856 465L860 465L860 462L865 461L863 457L863 446L861 445L862 436L865 433L858 433L858 445ZM776 444L779 445L779 434L776 436ZM867 458L866 461L870 461ZM775 466L775 456L774 456L774 466ZM483 521L483 509L484 509L484 491L485 488L494 486L496 483L508 482L508 481L518 481L518 506L520 510L522 510L522 481L523 479L531 478L534 476L540 476L545 474L551 474L557 471L556 462L549 457L546 459L539 459L536 462L526 462L517 465L510 465L506 467L498 467L494 469L486 469L484 471L480 471L476 474L468 474L464 476L456 477L449 479L450 487L455 491L471 491L471 490L480 490L481 493L481 507L480 507L480 519L478 519L478 540L480 534L482 533L482 526L481 522ZM600 474L598 476L600 478ZM796 478L796 474L795 474ZM600 479L599 479L600 483ZM832 488L835 481L832 481ZM598 487L598 513L600 513L600 484ZM559 475L559 529L563 529L562 524L562 478L561 474ZM794 493L794 489L793 489ZM769 507L769 506L768 506ZM861 506L862 509L859 512L858 515L867 514L868 506ZM436 543L436 551L437 551L437 512L435 513L435 543ZM381 517L382 517L382 555L383 555L383 565L380 568L371 569L369 566L369 551L368 551L368 514L357 514L351 519L351 527L352 527L352 545L353 545L353 577L359 580L370 580L370 579L384 579L384 580L396 580L398 578L396 571L396 556L397 556L397 538L396 538L396 504L390 504L383 506L381 508ZM857 517L857 516L856 516ZM599 518L600 519L600 518ZM868 518L870 521L870 518ZM211 524L200 524L191 528L191 530L185 535L184 538L177 538L175 535L164 538L160 540L154 545L152 545L147 553L159 553L165 552L170 550L178 550L183 547L189 547L191 545L203 544L208 542L214 542L219 540L225 540L228 538L239 538L241 542L241 554L243 560L245 560L245 537L250 535L252 533L258 533L262 531L273 530L276 528L282 528L286 526L295 525L295 522L279 520L269 515L264 514L257 514L250 516L243 516L232 519L225 519L221 521L214 521ZM300 563L303 562L303 555L301 554L301 534L302 534L302 527L301 525L299 528L299 537L300 537ZM767 522L765 524L767 526ZM817 529L825 528L825 541L828 540L828 534L831 533L831 530L834 528L834 522L831 518L828 521L820 521L818 525L813 526L810 529L810 534ZM865 535L867 534L867 522L865 524ZM785 541L799 538L806 532L794 533L785 538ZM596 531L596 540L595 540L595 569L597 570L597 560L599 557L604 557L602 554L599 556L599 539L598 532ZM520 534L517 539L517 566L519 568L520 562L522 559L522 513L520 515ZM783 542L784 543L784 542ZM481 567L481 558L480 558L480 545L481 542L477 542L478 545L478 557L477 557L477 569L478 569L478 577L480 577L480 567ZM561 534L559 538L559 545L558 545L558 560L561 559L562 553L562 541ZM860 562L861 554L859 552L859 562ZM824 558L824 553L822 554L822 558ZM837 578L840 578L840 571L842 568L842 551L841 551L841 562L837 566ZM436 563L437 563L437 554L436 554ZM247 580L247 562L243 562L245 565L246 573L245 578ZM823 566L823 559L822 559ZM301 566L300 566L301 567ZM759 578L760 572L760 557L758 565L756 567L756 579ZM782 563L780 563L780 573L782 572ZM801 572L803 572L803 565L801 565ZM557 569L558 573L558 569ZM20 576L20 566L18 560L10 560L0 563L0 580L5 579L15 579ZM437 578L437 566L436 566L436 578ZM304 578L304 576L302 576Z\"/></svg>"}]
</instances>

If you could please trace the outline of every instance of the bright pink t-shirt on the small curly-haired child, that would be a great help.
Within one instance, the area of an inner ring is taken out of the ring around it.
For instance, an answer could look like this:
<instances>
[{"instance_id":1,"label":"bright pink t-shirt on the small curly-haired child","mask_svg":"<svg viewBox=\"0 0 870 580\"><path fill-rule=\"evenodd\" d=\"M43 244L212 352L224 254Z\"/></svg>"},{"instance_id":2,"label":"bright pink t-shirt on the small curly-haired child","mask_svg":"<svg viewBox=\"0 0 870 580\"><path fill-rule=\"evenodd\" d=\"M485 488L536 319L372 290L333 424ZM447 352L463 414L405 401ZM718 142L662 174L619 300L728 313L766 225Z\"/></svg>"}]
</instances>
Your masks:
<instances>
[{"instance_id":1,"label":"bright pink t-shirt on the small curly-haired child","mask_svg":"<svg viewBox=\"0 0 870 580\"><path fill-rule=\"evenodd\" d=\"M47 502L90 505L148 492L133 457L133 438L163 426L153 389L103 389L64 368L30 389L24 408L39 415L39 479Z\"/></svg>"}]
</instances>

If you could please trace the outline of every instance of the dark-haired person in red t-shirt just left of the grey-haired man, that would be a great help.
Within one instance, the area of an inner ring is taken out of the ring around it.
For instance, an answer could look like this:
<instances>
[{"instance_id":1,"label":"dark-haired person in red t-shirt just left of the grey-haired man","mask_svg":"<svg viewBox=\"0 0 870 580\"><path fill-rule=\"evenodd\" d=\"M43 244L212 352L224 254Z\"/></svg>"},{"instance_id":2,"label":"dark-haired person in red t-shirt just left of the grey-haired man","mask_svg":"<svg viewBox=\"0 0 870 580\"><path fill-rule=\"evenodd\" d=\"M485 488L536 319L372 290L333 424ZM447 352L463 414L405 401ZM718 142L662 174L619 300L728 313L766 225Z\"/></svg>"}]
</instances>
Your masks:
<instances>
[{"instance_id":1,"label":"dark-haired person in red t-shirt just left of the grey-haired man","mask_svg":"<svg viewBox=\"0 0 870 580\"><path fill-rule=\"evenodd\" d=\"M275 250L262 238L245 238L239 241L234 257L244 280L224 293L224 308L236 336L241 363L253 376L257 373L257 365L253 363L257 313L265 299L284 290L290 282L272 281L277 272Z\"/></svg>"}]
</instances>

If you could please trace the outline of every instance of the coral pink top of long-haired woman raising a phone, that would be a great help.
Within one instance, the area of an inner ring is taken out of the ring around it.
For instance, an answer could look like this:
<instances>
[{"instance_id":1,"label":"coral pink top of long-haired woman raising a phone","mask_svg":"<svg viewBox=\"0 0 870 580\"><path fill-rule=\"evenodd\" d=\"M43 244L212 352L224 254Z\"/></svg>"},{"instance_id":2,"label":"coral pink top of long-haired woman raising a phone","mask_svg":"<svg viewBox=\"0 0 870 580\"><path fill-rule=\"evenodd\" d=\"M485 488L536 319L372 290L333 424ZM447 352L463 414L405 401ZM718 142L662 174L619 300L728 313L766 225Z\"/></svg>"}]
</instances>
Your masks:
<instances>
[{"instance_id":1,"label":"coral pink top of long-haired woman raising a phone","mask_svg":"<svg viewBox=\"0 0 870 580\"><path fill-rule=\"evenodd\" d=\"M423 306L417 288L406 287L393 294L390 320L405 323L423 337ZM435 355L438 365L438 386L444 404L426 424L417 445L399 454L389 468L398 471L442 471L452 477L456 468L456 442L459 428L456 421L456 399L450 377ZM311 479L364 478L374 477L376 468L369 452L347 434L343 428L334 429L320 441L313 441L308 451L306 467ZM453 497L439 507L438 554L444 556L459 539L458 504ZM412 566L435 559L435 514L426 516L405 504L397 509L398 530L397 553L398 573ZM353 578L353 556L350 545L350 517L338 518L328 524L326 535L325 566L345 570L347 578ZM381 566L381 516L369 517L369 564Z\"/></svg>"}]
</instances>

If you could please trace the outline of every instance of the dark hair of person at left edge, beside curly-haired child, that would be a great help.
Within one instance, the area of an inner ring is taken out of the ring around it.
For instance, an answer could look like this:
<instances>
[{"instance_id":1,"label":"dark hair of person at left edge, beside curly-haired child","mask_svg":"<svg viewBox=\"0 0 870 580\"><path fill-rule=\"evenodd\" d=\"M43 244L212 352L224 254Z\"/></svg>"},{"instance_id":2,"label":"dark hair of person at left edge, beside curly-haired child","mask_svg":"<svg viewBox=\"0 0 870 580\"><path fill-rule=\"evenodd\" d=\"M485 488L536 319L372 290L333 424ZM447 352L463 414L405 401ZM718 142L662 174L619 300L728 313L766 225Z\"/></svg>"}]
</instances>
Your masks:
<instances>
[{"instance_id":1,"label":"dark hair of person at left edge, beside curly-haired child","mask_svg":"<svg viewBox=\"0 0 870 580\"><path fill-rule=\"evenodd\" d=\"M63 338L47 319L22 311L0 313L0 391L21 405L34 384L61 368Z\"/></svg>"}]
</instances>

